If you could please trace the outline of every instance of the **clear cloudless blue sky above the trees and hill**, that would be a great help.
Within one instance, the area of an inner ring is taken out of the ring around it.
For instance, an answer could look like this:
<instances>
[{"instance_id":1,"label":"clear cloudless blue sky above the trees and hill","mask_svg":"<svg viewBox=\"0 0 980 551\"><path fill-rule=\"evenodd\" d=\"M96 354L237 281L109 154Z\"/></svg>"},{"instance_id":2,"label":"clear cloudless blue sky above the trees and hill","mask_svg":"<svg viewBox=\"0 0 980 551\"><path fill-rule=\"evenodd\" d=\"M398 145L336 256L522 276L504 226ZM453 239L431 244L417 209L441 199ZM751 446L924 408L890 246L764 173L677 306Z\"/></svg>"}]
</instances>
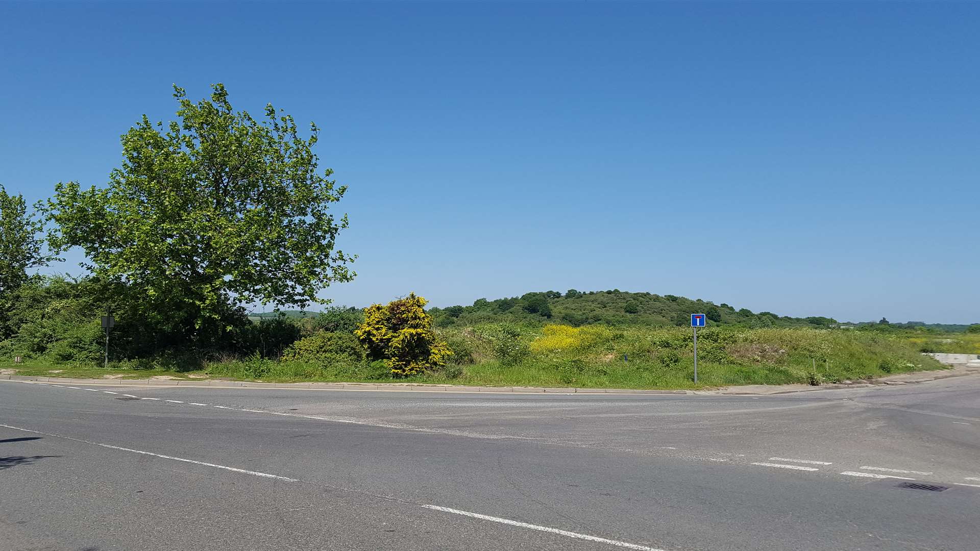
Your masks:
<instances>
[{"instance_id":1,"label":"clear cloudless blue sky above the trees and hill","mask_svg":"<svg viewBox=\"0 0 980 551\"><path fill-rule=\"evenodd\" d=\"M4 3L0 183L103 184L172 83L223 82L323 128L360 255L340 304L980 322L977 28L933 2Z\"/></svg>"}]
</instances>

